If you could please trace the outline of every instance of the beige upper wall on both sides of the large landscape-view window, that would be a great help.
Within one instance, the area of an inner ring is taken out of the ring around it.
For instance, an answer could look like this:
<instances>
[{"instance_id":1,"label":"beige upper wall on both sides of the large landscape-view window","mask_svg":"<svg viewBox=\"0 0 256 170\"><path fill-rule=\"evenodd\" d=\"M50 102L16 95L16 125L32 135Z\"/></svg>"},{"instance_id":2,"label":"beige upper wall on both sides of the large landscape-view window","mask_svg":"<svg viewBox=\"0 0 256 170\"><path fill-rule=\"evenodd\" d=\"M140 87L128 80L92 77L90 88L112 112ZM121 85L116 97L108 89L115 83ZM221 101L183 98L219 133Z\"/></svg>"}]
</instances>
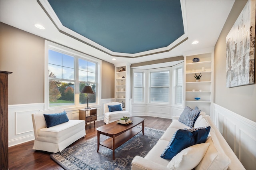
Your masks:
<instances>
[{"instance_id":1,"label":"beige upper wall on both sides of the large landscape-view window","mask_svg":"<svg viewBox=\"0 0 256 170\"><path fill-rule=\"evenodd\" d=\"M44 103L44 38L0 22L0 70L11 71L8 104ZM102 99L114 98L114 65L102 61Z\"/></svg>"}]
</instances>

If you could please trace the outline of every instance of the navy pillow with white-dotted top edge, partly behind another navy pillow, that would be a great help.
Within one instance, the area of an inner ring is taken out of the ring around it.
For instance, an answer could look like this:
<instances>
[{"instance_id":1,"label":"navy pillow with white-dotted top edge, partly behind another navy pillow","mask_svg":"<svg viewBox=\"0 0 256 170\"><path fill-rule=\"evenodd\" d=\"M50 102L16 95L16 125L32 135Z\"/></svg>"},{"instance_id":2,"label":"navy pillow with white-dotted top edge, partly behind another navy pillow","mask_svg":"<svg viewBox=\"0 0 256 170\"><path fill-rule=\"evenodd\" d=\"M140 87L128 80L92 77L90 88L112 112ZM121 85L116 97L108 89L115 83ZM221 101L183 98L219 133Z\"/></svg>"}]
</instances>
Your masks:
<instances>
[{"instance_id":1,"label":"navy pillow with white-dotted top edge, partly behind another navy pillow","mask_svg":"<svg viewBox=\"0 0 256 170\"><path fill-rule=\"evenodd\" d=\"M198 127L198 128L185 128L193 134L195 144L205 143L208 134L210 133L211 127Z\"/></svg>"}]
</instances>

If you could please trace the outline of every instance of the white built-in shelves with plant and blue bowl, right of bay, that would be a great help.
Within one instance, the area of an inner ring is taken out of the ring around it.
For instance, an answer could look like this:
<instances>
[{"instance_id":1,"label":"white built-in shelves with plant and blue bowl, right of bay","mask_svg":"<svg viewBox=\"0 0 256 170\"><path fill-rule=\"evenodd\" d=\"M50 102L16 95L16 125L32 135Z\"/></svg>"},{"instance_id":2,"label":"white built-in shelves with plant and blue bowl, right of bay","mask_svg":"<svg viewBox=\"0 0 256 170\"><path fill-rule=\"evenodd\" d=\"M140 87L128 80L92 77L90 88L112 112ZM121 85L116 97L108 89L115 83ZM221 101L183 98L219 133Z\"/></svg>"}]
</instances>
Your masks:
<instances>
[{"instance_id":1,"label":"white built-in shelves with plant and blue bowl, right of bay","mask_svg":"<svg viewBox=\"0 0 256 170\"><path fill-rule=\"evenodd\" d=\"M193 62L198 58L198 62ZM213 51L204 51L204 53L192 53L184 56L185 61L185 105L194 109L198 107L206 114L210 115L213 102L213 69L214 53ZM196 81L195 74L200 74L200 81ZM195 91L193 91L195 90ZM201 90L201 91L200 91ZM194 99L200 97L199 100Z\"/></svg>"}]
</instances>

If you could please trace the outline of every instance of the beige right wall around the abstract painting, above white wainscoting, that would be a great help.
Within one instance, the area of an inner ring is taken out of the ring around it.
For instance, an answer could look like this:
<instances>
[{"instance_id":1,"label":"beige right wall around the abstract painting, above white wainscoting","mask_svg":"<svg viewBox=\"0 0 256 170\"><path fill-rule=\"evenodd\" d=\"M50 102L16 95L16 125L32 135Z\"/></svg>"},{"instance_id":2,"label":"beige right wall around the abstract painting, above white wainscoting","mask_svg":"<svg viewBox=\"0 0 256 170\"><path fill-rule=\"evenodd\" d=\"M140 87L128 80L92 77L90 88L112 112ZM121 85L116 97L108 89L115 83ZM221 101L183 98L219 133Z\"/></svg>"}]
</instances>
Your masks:
<instances>
[{"instance_id":1,"label":"beige right wall around the abstract painting, above white wainscoting","mask_svg":"<svg viewBox=\"0 0 256 170\"><path fill-rule=\"evenodd\" d=\"M236 0L214 50L214 103L256 122L256 84L226 88L226 36L246 4Z\"/></svg>"}]
</instances>

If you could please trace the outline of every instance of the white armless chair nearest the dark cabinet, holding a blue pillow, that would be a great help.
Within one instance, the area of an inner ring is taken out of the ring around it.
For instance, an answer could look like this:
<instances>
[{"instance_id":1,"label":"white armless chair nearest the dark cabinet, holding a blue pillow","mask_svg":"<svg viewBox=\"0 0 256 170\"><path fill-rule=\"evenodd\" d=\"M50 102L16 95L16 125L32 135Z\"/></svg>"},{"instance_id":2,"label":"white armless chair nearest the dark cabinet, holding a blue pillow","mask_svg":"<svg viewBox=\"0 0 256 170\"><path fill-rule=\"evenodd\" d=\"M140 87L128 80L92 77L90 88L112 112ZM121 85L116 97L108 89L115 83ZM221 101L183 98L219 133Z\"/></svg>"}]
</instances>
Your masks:
<instances>
[{"instance_id":1,"label":"white armless chair nearest the dark cabinet, holding a blue pillow","mask_svg":"<svg viewBox=\"0 0 256 170\"><path fill-rule=\"evenodd\" d=\"M69 120L68 122L47 128L44 114L62 113L64 109L47 109L32 114L35 141L34 150L61 152L86 135L84 120Z\"/></svg>"}]
</instances>

